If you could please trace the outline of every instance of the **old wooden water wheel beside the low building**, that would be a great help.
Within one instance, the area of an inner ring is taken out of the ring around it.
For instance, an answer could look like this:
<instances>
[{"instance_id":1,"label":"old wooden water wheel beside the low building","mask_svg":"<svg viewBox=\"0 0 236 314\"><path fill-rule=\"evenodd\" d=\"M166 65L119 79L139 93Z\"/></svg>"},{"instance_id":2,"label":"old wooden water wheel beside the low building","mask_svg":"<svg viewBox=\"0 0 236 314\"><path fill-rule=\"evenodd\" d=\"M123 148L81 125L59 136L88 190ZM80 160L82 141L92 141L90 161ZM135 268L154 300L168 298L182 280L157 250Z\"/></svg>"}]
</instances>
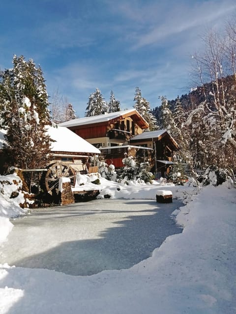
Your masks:
<instances>
[{"instance_id":1,"label":"old wooden water wheel beside the low building","mask_svg":"<svg viewBox=\"0 0 236 314\"><path fill-rule=\"evenodd\" d=\"M70 178L71 185L75 185L75 170L66 162L55 161L48 166L45 185L50 195L59 192L59 179Z\"/></svg>"}]
</instances>

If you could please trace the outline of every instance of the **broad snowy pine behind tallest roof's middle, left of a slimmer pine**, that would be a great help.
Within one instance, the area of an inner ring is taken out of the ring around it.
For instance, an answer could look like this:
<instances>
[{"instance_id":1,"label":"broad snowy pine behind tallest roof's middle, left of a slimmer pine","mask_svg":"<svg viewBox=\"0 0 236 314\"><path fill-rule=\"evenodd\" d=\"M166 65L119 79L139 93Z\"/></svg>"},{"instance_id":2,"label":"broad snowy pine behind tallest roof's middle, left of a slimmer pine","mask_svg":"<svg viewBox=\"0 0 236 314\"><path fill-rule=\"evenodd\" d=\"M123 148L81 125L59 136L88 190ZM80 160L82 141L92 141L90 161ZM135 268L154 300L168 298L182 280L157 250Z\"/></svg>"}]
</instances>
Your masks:
<instances>
[{"instance_id":1,"label":"broad snowy pine behind tallest roof's middle, left of a slimmer pine","mask_svg":"<svg viewBox=\"0 0 236 314\"><path fill-rule=\"evenodd\" d=\"M96 88L95 92L89 96L85 117L97 116L107 112L107 104L102 97L101 91Z\"/></svg>"}]
</instances>

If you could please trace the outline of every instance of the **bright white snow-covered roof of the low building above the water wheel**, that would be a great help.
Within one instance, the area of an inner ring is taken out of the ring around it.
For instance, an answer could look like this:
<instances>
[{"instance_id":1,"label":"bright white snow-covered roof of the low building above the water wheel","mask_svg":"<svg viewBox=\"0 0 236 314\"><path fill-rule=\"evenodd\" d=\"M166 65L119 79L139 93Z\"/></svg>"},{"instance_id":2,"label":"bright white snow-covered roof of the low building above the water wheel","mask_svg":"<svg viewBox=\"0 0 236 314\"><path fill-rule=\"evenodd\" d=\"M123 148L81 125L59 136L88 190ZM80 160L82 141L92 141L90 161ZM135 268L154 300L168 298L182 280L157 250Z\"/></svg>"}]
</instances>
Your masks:
<instances>
[{"instance_id":1,"label":"bright white snow-covered roof of the low building above the water wheel","mask_svg":"<svg viewBox=\"0 0 236 314\"><path fill-rule=\"evenodd\" d=\"M51 144L52 152L100 154L99 149L67 128L47 126L47 132L55 140Z\"/></svg>"}]
</instances>

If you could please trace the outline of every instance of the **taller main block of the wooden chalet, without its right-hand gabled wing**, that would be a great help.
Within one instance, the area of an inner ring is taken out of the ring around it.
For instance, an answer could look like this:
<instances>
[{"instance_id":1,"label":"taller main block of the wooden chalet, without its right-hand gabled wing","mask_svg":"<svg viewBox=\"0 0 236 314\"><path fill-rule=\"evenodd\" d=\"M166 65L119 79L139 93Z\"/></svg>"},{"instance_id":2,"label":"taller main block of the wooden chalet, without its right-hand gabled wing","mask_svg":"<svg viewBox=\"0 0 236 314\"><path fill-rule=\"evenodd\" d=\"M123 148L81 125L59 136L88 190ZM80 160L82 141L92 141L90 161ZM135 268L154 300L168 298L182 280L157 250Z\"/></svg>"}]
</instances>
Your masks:
<instances>
[{"instance_id":1,"label":"taller main block of the wooden chalet, without its right-hand gabled wing","mask_svg":"<svg viewBox=\"0 0 236 314\"><path fill-rule=\"evenodd\" d=\"M135 109L74 119L59 126L69 128L99 148L107 163L113 163L116 168L123 166L122 159L125 153L136 157L137 151L152 151L152 148L130 144L132 136L148 129L148 122Z\"/></svg>"}]
</instances>

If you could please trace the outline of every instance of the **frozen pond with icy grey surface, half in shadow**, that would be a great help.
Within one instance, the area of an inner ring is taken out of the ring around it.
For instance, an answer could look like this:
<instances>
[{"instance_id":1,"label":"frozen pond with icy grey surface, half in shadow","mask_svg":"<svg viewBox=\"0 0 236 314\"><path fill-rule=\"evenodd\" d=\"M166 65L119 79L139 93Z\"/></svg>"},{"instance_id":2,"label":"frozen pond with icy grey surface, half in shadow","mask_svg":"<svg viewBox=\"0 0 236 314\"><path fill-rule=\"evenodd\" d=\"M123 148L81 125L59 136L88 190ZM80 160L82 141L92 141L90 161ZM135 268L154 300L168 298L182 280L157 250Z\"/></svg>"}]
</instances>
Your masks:
<instances>
[{"instance_id":1,"label":"frozen pond with icy grey surface, half in shadow","mask_svg":"<svg viewBox=\"0 0 236 314\"><path fill-rule=\"evenodd\" d=\"M180 206L177 200L104 199L36 209L12 220L0 263L82 276L129 268L182 231L171 218Z\"/></svg>"}]
</instances>

